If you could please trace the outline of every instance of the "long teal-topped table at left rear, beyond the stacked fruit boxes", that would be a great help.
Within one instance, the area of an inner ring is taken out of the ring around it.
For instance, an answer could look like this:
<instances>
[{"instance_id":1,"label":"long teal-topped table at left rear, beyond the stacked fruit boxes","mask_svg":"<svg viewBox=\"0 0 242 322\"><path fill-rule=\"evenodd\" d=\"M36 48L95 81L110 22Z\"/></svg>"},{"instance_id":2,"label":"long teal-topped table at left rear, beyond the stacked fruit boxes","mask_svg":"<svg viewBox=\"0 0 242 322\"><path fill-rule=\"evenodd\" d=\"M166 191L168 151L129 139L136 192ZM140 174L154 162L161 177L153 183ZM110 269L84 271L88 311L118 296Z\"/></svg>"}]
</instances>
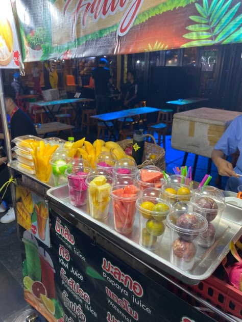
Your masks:
<instances>
[{"instance_id":1,"label":"long teal-topped table at left rear, beyond the stacked fruit boxes","mask_svg":"<svg viewBox=\"0 0 242 322\"><path fill-rule=\"evenodd\" d=\"M56 114L59 113L61 105L63 104L70 104L71 107L76 112L76 120L80 118L80 110L83 108L83 105L87 102L94 102L95 100L92 98L66 98L66 99L57 99L53 101L37 101L34 104L38 106L42 106L44 111L47 113L48 118L53 122L55 120L54 108L56 105L60 105ZM76 104L77 105L76 105ZM81 106L80 106L81 105Z\"/></svg>"}]
</instances>

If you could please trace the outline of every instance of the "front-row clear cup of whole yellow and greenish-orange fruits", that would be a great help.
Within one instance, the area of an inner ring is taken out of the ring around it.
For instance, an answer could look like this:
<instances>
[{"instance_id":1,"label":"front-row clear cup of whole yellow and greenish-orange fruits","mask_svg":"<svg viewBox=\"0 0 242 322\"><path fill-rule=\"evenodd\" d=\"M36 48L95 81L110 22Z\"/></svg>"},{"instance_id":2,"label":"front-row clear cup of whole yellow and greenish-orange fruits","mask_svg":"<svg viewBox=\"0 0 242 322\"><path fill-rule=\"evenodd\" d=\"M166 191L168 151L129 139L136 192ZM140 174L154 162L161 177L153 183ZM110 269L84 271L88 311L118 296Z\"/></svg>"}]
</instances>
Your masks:
<instances>
[{"instance_id":1,"label":"front-row clear cup of whole yellow and greenish-orange fruits","mask_svg":"<svg viewBox=\"0 0 242 322\"><path fill-rule=\"evenodd\" d=\"M165 219L172 206L167 201L141 196L136 200L139 211L139 245L155 250L161 245L165 231Z\"/></svg>"}]
</instances>

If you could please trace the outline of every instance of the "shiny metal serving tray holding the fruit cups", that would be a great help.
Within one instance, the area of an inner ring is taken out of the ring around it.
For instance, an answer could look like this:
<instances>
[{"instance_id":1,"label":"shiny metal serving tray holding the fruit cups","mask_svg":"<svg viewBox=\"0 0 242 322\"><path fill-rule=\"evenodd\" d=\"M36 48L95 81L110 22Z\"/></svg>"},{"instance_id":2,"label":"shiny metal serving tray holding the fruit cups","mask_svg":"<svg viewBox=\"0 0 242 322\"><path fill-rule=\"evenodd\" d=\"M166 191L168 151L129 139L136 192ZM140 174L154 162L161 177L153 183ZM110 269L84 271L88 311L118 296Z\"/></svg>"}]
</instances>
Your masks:
<instances>
[{"instance_id":1,"label":"shiny metal serving tray holding the fruit cups","mask_svg":"<svg viewBox=\"0 0 242 322\"><path fill-rule=\"evenodd\" d=\"M160 271L166 272L190 285L198 284L201 280L208 278L229 252L230 241L236 241L242 234L241 208L228 204L222 214L214 244L210 248L198 247L196 261L192 269L182 271L170 262L170 231L167 227L161 248L153 252L138 244L138 213L136 213L133 231L128 235L122 235L114 230L111 204L108 219L98 221L87 214L85 206L76 208L70 205L67 184L49 189L47 199L57 207L59 206L62 211L110 239L118 247L129 252L133 257L145 263L157 273Z\"/></svg>"}]
</instances>

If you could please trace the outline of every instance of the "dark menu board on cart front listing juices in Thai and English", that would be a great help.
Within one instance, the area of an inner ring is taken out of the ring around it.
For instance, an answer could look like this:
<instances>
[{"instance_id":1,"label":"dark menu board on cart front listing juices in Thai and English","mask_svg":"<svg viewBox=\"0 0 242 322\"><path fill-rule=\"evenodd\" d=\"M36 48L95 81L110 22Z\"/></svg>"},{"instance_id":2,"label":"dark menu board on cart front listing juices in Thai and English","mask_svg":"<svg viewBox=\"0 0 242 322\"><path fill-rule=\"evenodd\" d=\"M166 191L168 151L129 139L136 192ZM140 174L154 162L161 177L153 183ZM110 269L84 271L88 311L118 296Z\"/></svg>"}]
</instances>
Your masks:
<instances>
[{"instance_id":1,"label":"dark menu board on cart front listing juices in Thai and English","mask_svg":"<svg viewBox=\"0 0 242 322\"><path fill-rule=\"evenodd\" d=\"M23 234L25 298L49 322L204 321L204 314L51 213L51 248Z\"/></svg>"}]
</instances>

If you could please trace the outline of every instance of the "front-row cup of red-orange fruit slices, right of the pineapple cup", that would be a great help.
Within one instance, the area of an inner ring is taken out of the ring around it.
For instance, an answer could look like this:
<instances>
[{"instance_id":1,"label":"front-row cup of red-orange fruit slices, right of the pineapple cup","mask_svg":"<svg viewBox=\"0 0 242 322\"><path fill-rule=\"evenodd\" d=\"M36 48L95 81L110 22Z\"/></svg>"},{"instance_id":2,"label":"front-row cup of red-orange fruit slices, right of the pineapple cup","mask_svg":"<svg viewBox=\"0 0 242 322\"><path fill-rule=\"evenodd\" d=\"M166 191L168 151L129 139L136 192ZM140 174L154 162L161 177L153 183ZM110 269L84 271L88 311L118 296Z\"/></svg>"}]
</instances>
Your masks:
<instances>
[{"instance_id":1,"label":"front-row cup of red-orange fruit slices, right of the pineapple cup","mask_svg":"<svg viewBox=\"0 0 242 322\"><path fill-rule=\"evenodd\" d=\"M117 232L128 234L132 231L136 214L135 202L140 189L135 184L114 185L111 191L114 228Z\"/></svg>"}]
</instances>

